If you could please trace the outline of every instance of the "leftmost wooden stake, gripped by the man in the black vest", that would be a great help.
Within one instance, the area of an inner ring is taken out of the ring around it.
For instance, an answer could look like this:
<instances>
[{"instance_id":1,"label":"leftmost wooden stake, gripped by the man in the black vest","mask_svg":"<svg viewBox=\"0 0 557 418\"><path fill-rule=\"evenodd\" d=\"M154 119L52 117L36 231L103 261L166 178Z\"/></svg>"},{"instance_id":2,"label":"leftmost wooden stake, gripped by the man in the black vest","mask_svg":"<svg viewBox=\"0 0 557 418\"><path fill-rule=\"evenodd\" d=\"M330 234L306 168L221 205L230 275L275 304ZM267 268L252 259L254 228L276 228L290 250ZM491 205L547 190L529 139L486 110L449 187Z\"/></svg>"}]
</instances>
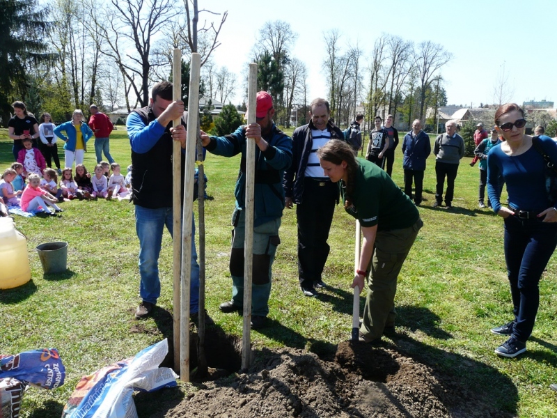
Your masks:
<instances>
[{"instance_id":1,"label":"leftmost wooden stake, gripped by the man in the black vest","mask_svg":"<svg viewBox=\"0 0 557 418\"><path fill-rule=\"evenodd\" d=\"M175 48L172 54L172 100L182 100L182 52ZM180 125L180 119L172 122L173 127ZM181 182L182 178L182 149L180 142L173 141L172 146L172 274L173 274L173 316L174 316L174 371L180 373L180 270L182 268L182 199Z\"/></svg>"}]
</instances>

